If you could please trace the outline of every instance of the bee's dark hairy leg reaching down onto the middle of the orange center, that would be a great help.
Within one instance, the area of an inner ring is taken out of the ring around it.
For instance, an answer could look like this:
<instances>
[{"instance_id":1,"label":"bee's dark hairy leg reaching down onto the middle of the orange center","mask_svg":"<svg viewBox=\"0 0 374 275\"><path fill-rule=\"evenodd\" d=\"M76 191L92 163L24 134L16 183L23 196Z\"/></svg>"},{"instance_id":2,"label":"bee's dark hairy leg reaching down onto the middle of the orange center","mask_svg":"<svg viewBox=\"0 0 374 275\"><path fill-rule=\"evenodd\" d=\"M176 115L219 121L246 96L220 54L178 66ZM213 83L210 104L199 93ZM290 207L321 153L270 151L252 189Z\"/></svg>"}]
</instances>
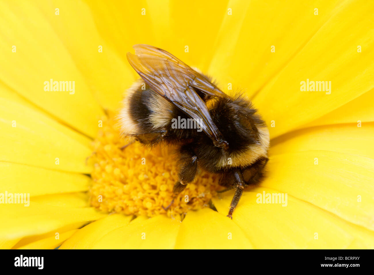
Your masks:
<instances>
[{"instance_id":1,"label":"bee's dark hairy leg reaching down onto the middle of the orange center","mask_svg":"<svg viewBox=\"0 0 374 275\"><path fill-rule=\"evenodd\" d=\"M197 171L197 156L188 147L181 148L180 156L180 171L178 173L179 180L173 187L173 199L167 207L162 207L165 211L173 204L174 199L186 189L188 183L192 182L195 178Z\"/></svg>"}]
</instances>

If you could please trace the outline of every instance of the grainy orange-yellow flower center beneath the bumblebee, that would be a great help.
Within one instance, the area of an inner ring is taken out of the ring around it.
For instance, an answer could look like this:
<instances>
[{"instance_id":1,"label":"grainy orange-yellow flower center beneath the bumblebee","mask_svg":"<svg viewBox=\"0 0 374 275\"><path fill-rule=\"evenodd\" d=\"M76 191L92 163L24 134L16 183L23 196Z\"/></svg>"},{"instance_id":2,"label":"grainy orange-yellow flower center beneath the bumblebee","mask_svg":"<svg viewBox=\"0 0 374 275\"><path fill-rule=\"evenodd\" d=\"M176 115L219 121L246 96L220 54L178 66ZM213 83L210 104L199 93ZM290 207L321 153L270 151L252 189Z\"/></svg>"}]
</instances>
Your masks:
<instances>
[{"instance_id":1,"label":"grainy orange-yellow flower center beneath the bumblebee","mask_svg":"<svg viewBox=\"0 0 374 275\"><path fill-rule=\"evenodd\" d=\"M196 181L188 184L165 211L162 207L167 207L174 198L172 190L178 180L173 148L129 144L128 138L120 136L114 117L102 120L102 128L93 142L94 170L89 190L93 207L108 213L148 217L162 213L175 217L209 207L210 199L222 187L218 185L217 175L201 171Z\"/></svg>"}]
</instances>

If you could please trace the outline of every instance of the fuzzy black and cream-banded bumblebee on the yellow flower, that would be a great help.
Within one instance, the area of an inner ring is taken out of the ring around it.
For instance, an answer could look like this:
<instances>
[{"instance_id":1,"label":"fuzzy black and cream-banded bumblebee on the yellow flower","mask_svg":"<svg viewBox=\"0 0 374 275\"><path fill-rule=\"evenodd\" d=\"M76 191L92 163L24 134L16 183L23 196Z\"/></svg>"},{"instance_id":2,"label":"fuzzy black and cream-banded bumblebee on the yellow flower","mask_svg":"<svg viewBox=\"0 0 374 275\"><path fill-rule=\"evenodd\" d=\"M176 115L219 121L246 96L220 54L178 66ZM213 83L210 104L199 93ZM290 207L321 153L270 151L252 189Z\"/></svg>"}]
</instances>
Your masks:
<instances>
[{"instance_id":1,"label":"fuzzy black and cream-banded bumblebee on the yellow flower","mask_svg":"<svg viewBox=\"0 0 374 275\"><path fill-rule=\"evenodd\" d=\"M198 168L219 174L225 190L235 189L227 215L232 219L243 189L264 177L270 142L266 124L248 99L225 94L168 52L149 45L134 49L127 59L142 80L123 100L122 134L145 146L177 146L174 196L194 180Z\"/></svg>"}]
</instances>

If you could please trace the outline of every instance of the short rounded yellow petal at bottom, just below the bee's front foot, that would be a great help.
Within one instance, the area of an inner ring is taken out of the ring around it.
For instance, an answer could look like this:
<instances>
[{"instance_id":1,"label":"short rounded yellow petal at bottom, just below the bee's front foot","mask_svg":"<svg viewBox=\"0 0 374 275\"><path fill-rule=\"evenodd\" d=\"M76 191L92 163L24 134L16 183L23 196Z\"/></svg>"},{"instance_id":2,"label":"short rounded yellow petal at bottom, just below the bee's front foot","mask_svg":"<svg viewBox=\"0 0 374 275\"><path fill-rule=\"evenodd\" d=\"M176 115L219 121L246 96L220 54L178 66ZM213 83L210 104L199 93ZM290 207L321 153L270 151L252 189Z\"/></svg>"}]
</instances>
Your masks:
<instances>
[{"instance_id":1,"label":"short rounded yellow petal at bottom, just below the bee's front foot","mask_svg":"<svg viewBox=\"0 0 374 275\"><path fill-rule=\"evenodd\" d=\"M249 249L245 233L231 219L210 208L190 211L178 232L176 249Z\"/></svg>"}]
</instances>

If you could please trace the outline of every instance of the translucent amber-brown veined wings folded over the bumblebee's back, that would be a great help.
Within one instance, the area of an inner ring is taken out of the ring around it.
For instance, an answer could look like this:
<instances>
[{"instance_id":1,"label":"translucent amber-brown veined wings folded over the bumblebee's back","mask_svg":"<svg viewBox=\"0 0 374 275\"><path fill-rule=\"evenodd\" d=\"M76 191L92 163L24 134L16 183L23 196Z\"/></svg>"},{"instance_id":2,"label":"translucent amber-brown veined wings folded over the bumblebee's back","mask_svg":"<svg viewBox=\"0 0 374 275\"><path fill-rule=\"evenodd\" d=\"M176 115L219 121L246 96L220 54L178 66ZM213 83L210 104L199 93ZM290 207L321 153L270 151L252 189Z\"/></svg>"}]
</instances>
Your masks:
<instances>
[{"instance_id":1,"label":"translucent amber-brown veined wings folded over the bumblebee's back","mask_svg":"<svg viewBox=\"0 0 374 275\"><path fill-rule=\"evenodd\" d=\"M152 90L171 101L194 119L214 141L220 144L221 134L215 126L205 102L194 88L214 97L226 97L205 76L168 52L148 45L135 45L135 55L127 53L127 59Z\"/></svg>"}]
</instances>

